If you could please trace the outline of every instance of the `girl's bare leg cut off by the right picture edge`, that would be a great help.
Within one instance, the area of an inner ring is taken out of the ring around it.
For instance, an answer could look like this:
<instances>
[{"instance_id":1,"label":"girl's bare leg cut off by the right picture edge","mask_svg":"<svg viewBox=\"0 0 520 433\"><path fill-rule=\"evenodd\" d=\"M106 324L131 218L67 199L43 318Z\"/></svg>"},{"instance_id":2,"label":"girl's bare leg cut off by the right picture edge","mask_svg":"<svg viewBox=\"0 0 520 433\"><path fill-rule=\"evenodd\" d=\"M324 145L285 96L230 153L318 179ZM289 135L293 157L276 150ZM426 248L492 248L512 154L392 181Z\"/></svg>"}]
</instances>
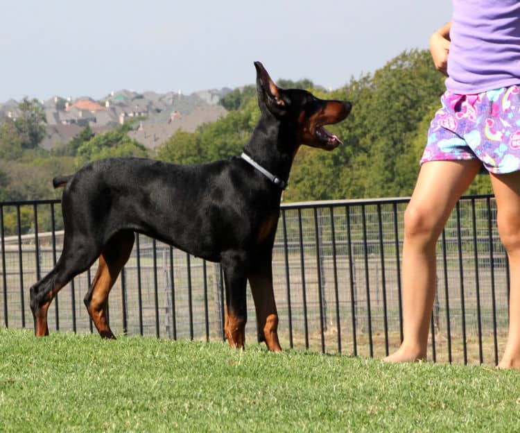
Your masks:
<instances>
[{"instance_id":1,"label":"girl's bare leg cut off by the right picture edge","mask_svg":"<svg viewBox=\"0 0 520 433\"><path fill-rule=\"evenodd\" d=\"M520 172L491 175L500 239L510 264L509 334L499 368L520 368Z\"/></svg>"}]
</instances>

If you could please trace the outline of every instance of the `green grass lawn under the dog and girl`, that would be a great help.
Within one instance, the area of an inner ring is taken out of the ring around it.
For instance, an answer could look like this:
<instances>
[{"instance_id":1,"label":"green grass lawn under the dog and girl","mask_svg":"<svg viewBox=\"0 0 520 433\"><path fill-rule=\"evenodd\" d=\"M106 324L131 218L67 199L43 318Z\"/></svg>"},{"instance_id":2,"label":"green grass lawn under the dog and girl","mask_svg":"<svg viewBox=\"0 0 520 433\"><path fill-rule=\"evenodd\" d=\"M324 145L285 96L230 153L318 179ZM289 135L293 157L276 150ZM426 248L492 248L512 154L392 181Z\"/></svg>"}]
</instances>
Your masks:
<instances>
[{"instance_id":1,"label":"green grass lawn under the dog and girl","mask_svg":"<svg viewBox=\"0 0 520 433\"><path fill-rule=\"evenodd\" d=\"M0 432L512 432L520 372L0 328Z\"/></svg>"}]
</instances>

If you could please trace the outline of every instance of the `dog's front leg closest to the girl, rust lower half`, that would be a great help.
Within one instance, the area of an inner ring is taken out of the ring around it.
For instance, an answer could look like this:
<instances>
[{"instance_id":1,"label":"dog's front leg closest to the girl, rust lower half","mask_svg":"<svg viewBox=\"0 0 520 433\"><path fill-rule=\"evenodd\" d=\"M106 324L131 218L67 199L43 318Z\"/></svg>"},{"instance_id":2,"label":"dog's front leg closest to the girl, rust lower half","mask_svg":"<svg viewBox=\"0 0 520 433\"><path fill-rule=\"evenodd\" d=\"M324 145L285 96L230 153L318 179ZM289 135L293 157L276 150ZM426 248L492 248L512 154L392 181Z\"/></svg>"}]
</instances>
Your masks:
<instances>
[{"instance_id":1,"label":"dog's front leg closest to the girl, rust lower half","mask_svg":"<svg viewBox=\"0 0 520 433\"><path fill-rule=\"evenodd\" d=\"M259 341L266 341L269 350L281 350L278 339L278 313L275 303L275 292L272 289L271 256L257 263L248 276L251 293L254 300L254 309L257 313L257 329Z\"/></svg>"}]
</instances>

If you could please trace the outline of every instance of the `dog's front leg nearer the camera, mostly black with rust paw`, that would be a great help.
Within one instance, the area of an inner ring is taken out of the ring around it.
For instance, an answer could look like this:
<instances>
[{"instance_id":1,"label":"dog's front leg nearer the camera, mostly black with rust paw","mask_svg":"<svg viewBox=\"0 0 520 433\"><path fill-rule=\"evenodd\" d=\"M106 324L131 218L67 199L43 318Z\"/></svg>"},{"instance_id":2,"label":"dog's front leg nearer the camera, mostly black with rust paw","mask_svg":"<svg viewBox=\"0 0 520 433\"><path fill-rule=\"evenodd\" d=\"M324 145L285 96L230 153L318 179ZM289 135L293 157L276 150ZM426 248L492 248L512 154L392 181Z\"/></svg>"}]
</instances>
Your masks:
<instances>
[{"instance_id":1,"label":"dog's front leg nearer the camera, mostly black with rust paw","mask_svg":"<svg viewBox=\"0 0 520 433\"><path fill-rule=\"evenodd\" d=\"M226 263L227 262L227 263ZM224 330L229 346L243 349L245 343L245 323L248 310L245 302L247 278L243 262L240 260L223 261L226 307Z\"/></svg>"}]
</instances>

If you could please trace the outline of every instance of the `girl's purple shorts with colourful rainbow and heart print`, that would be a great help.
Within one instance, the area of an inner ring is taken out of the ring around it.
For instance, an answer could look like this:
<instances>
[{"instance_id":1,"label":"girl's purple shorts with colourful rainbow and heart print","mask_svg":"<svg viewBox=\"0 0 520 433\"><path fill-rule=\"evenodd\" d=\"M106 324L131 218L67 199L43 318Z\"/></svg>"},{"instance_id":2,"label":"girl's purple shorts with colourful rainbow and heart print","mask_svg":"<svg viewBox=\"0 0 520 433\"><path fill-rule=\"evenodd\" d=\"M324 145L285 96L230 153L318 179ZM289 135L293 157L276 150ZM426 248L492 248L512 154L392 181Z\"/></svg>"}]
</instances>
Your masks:
<instances>
[{"instance_id":1,"label":"girl's purple shorts with colourful rainbow and heart print","mask_svg":"<svg viewBox=\"0 0 520 433\"><path fill-rule=\"evenodd\" d=\"M460 95L447 90L420 164L478 159L490 173L520 170L520 87Z\"/></svg>"}]
</instances>

